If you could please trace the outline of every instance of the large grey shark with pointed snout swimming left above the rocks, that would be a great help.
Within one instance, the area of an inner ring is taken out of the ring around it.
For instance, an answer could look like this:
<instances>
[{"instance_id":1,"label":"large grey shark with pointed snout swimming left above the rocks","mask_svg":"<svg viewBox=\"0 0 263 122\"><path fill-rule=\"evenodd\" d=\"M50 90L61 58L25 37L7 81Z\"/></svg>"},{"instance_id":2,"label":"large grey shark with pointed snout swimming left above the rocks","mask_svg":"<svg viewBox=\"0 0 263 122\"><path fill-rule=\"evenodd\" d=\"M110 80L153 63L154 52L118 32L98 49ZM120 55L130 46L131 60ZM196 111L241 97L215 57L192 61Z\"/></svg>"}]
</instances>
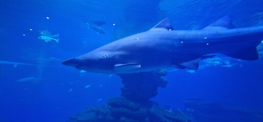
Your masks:
<instances>
[{"instance_id":1,"label":"large grey shark with pointed snout swimming left above the rocks","mask_svg":"<svg viewBox=\"0 0 263 122\"><path fill-rule=\"evenodd\" d=\"M149 31L106 44L65 60L63 65L95 73L137 73L175 67L193 69L208 54L256 60L263 26L235 28L225 16L201 30L176 31L168 18Z\"/></svg>"}]
</instances>

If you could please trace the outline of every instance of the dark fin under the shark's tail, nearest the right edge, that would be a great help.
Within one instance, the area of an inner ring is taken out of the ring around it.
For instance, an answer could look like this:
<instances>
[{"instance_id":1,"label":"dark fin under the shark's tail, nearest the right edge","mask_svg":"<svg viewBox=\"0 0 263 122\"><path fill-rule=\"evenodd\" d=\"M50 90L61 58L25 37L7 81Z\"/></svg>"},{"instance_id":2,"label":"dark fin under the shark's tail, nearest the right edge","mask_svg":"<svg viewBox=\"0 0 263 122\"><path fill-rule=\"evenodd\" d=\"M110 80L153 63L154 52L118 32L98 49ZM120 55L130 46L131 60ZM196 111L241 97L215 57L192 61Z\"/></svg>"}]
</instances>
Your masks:
<instances>
[{"instance_id":1,"label":"dark fin under the shark's tail, nearest the right edge","mask_svg":"<svg viewBox=\"0 0 263 122\"><path fill-rule=\"evenodd\" d=\"M243 59L243 60L256 60L258 59L258 53L256 48L246 48L239 50L234 53L224 53L227 56L238 58L238 59Z\"/></svg>"}]
</instances>

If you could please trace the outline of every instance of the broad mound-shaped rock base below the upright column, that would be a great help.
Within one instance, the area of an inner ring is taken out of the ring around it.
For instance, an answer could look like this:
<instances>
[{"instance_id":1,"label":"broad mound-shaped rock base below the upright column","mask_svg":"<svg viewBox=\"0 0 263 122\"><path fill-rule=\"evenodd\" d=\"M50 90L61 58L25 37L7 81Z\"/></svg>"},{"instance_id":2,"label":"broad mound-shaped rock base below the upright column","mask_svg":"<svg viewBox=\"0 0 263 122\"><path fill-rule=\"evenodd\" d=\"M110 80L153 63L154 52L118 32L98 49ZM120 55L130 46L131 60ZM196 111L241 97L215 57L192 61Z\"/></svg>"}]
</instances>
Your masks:
<instances>
[{"instance_id":1,"label":"broad mound-shaped rock base below the upright column","mask_svg":"<svg viewBox=\"0 0 263 122\"><path fill-rule=\"evenodd\" d=\"M165 110L156 102L133 102L124 97L110 98L107 105L92 106L70 117L68 122L190 122L179 110Z\"/></svg>"}]
</instances>

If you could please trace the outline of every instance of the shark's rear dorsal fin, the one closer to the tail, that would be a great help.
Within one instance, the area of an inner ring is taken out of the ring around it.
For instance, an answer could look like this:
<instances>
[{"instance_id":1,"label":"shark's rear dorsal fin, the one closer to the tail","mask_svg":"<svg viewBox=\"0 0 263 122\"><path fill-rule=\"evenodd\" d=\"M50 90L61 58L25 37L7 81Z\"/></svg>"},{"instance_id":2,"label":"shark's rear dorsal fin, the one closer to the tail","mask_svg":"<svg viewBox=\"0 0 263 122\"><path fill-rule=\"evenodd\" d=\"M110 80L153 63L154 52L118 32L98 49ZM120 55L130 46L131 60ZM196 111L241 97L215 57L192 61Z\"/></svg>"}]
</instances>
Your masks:
<instances>
[{"instance_id":1,"label":"shark's rear dorsal fin, the one closer to the tail","mask_svg":"<svg viewBox=\"0 0 263 122\"><path fill-rule=\"evenodd\" d=\"M232 20L229 16L224 16L221 19L216 20L212 24L208 25L204 29L232 29L235 26L232 24Z\"/></svg>"}]
</instances>

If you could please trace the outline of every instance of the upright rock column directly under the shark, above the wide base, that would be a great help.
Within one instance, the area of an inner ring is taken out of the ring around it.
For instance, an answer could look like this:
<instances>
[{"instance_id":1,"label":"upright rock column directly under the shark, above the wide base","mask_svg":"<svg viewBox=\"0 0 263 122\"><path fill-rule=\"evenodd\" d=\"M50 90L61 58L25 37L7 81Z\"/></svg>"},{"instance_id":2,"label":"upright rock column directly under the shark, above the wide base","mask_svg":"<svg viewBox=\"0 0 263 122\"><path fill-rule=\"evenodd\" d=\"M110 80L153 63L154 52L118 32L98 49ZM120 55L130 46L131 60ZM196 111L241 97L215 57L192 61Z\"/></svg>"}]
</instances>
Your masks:
<instances>
[{"instance_id":1,"label":"upright rock column directly under the shark, above the wide base","mask_svg":"<svg viewBox=\"0 0 263 122\"><path fill-rule=\"evenodd\" d=\"M166 87L166 70L118 74L122 79L121 96L136 102L144 102L158 94L158 87Z\"/></svg>"}]
</instances>

